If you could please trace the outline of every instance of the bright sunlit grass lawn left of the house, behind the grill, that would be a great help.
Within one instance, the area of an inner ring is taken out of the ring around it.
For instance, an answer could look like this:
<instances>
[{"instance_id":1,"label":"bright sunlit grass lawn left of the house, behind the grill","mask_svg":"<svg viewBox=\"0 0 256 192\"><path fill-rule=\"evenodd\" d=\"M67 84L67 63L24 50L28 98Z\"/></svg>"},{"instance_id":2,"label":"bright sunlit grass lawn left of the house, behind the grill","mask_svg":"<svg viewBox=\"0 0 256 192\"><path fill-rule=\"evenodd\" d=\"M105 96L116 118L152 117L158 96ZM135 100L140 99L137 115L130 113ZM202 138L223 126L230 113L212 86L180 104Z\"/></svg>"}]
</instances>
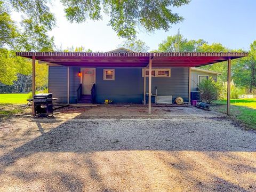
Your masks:
<instances>
[{"instance_id":1,"label":"bright sunlit grass lawn left of the house, behind the grill","mask_svg":"<svg viewBox=\"0 0 256 192\"><path fill-rule=\"evenodd\" d=\"M0 94L0 103L26 104L29 93Z\"/></svg>"}]
</instances>

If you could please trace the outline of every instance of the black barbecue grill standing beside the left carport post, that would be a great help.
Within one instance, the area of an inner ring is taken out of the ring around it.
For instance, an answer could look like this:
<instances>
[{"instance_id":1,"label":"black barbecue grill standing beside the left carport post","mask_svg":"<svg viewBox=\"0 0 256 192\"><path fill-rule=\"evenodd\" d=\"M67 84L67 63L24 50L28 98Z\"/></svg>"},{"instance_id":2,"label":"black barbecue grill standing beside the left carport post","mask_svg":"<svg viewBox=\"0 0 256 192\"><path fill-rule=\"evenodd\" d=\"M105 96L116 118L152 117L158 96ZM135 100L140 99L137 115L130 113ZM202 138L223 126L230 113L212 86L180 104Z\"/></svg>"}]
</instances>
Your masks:
<instances>
[{"instance_id":1,"label":"black barbecue grill standing beside the left carport post","mask_svg":"<svg viewBox=\"0 0 256 192\"><path fill-rule=\"evenodd\" d=\"M52 98L52 93L39 93L35 94L33 99L27 99L33 101L34 115L48 116L53 113L52 101L58 98Z\"/></svg>"}]
</instances>

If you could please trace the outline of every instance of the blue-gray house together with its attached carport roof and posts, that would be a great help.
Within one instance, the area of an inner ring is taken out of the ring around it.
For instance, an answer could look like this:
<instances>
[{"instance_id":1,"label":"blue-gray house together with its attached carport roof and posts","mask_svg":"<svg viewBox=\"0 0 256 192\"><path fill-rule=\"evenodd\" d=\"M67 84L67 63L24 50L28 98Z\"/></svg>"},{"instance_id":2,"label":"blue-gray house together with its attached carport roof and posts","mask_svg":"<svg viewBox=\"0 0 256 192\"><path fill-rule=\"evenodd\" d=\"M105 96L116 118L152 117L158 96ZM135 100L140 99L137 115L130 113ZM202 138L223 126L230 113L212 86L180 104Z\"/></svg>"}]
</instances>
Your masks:
<instances>
[{"instance_id":1,"label":"blue-gray house together with its attached carport roof and posts","mask_svg":"<svg viewBox=\"0 0 256 192\"><path fill-rule=\"evenodd\" d=\"M59 102L103 103L109 99L114 103L146 104L148 95L150 113L152 97L163 101L167 98L169 102L181 97L189 102L190 91L195 89L191 82L214 75L193 67L222 61L228 61L230 66L231 59L245 57L247 53L138 53L121 48L106 53L17 52L17 55L33 59L33 93L35 60L39 60L49 65L49 92Z\"/></svg>"}]
</instances>

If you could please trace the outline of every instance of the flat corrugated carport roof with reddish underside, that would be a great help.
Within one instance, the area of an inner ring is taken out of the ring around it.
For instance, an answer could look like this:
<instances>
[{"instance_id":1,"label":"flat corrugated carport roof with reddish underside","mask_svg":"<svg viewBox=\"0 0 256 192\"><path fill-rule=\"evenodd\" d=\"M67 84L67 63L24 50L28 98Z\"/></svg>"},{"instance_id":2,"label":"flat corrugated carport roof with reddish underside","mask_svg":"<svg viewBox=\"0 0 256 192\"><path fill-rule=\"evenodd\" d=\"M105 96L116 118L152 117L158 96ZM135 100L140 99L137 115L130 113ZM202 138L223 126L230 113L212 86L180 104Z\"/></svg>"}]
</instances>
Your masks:
<instances>
[{"instance_id":1,"label":"flat corrugated carport roof with reddish underside","mask_svg":"<svg viewBox=\"0 0 256 192\"><path fill-rule=\"evenodd\" d=\"M17 52L26 58L62 66L85 67L199 67L230 59L246 57L248 53L87 53L87 52Z\"/></svg>"}]
</instances>

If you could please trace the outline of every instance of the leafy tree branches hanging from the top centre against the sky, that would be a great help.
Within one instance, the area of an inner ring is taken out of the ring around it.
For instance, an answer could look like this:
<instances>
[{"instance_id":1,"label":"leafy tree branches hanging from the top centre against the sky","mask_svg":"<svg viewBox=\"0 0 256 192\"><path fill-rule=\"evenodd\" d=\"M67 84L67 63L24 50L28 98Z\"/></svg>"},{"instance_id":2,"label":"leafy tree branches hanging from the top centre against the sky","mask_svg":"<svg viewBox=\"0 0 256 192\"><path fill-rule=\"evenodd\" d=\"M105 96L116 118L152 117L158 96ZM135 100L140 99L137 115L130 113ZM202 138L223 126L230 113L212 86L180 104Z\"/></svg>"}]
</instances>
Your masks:
<instances>
[{"instance_id":1,"label":"leafy tree branches hanging from the top centre against the sky","mask_svg":"<svg viewBox=\"0 0 256 192\"><path fill-rule=\"evenodd\" d=\"M171 7L186 5L190 0L61 0L65 6L66 17L70 22L84 22L102 19L102 12L110 17L108 25L119 37L134 38L136 27L142 26L149 32L157 29L165 31L172 24L183 20Z\"/></svg>"}]
</instances>

